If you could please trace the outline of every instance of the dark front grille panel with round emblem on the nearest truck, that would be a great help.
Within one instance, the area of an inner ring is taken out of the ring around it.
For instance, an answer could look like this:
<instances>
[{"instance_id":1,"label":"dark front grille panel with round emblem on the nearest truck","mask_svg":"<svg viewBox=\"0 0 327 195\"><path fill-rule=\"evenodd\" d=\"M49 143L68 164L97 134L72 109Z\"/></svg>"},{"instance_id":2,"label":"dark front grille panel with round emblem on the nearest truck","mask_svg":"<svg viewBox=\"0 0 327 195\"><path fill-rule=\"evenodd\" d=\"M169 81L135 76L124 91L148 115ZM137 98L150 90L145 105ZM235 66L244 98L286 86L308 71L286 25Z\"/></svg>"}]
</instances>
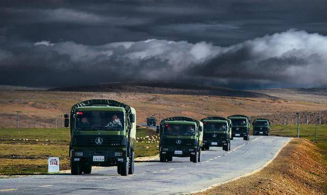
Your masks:
<instances>
[{"instance_id":1,"label":"dark front grille panel with round emblem on the nearest truck","mask_svg":"<svg viewBox=\"0 0 327 195\"><path fill-rule=\"evenodd\" d=\"M102 139L101 144L96 143L96 139L98 137L100 137ZM79 147L108 147L108 146L120 145L124 136L99 135L99 136L76 136L74 138Z\"/></svg>"}]
</instances>

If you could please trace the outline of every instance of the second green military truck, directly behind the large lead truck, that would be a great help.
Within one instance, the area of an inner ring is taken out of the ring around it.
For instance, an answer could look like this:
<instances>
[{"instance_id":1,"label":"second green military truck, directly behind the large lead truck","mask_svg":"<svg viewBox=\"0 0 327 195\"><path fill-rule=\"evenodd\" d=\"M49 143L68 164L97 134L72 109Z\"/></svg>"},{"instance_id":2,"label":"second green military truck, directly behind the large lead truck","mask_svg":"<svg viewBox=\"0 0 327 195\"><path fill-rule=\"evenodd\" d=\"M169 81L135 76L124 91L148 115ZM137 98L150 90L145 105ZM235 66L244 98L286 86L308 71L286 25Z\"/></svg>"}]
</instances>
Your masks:
<instances>
[{"instance_id":1,"label":"second green military truck, directly behind the large lead truck","mask_svg":"<svg viewBox=\"0 0 327 195\"><path fill-rule=\"evenodd\" d=\"M165 118L157 126L160 137L160 162L172 161L173 157L190 157L200 162L203 139L201 121L184 116Z\"/></svg>"}]
</instances>

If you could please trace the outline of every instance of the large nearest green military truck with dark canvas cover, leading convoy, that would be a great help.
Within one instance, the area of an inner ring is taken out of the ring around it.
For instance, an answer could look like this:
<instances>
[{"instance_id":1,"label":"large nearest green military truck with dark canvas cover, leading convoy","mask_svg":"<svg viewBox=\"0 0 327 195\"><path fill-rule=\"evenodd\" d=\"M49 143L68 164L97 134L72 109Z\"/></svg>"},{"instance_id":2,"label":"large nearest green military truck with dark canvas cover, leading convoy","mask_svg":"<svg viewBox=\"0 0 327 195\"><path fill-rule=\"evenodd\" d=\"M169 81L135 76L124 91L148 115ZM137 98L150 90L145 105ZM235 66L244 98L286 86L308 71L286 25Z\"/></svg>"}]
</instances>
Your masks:
<instances>
[{"instance_id":1,"label":"large nearest green military truck with dark canvas cover, leading convoy","mask_svg":"<svg viewBox=\"0 0 327 195\"><path fill-rule=\"evenodd\" d=\"M135 109L114 100L87 100L65 114L70 127L71 173L90 174L92 166L117 166L118 174L134 173Z\"/></svg>"}]
</instances>

